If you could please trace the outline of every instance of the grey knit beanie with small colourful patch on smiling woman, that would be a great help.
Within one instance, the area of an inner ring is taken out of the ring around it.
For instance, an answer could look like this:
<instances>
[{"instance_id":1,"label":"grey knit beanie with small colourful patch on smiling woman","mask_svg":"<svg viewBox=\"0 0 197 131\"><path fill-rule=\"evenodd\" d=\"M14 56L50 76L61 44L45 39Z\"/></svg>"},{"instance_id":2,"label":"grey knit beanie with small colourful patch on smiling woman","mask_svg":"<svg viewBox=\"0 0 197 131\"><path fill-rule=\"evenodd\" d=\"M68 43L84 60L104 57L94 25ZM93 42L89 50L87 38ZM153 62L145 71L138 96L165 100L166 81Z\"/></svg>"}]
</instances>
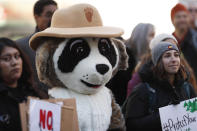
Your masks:
<instances>
[{"instance_id":1,"label":"grey knit beanie with small colourful patch on smiling woman","mask_svg":"<svg viewBox=\"0 0 197 131\"><path fill-rule=\"evenodd\" d=\"M154 46L151 50L153 64L157 65L159 58L169 50L176 50L179 52L178 47L169 42L159 42L156 46Z\"/></svg>"}]
</instances>

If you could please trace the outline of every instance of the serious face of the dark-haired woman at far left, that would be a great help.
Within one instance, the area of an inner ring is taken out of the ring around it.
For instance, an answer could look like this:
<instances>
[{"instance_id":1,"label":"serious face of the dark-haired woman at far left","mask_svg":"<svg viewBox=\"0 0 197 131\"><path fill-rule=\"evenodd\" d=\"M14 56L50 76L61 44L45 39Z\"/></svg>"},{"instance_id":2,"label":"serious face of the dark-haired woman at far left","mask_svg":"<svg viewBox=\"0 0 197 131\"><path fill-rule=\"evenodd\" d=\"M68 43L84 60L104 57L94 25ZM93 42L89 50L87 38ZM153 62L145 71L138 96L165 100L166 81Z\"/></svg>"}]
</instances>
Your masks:
<instances>
[{"instance_id":1,"label":"serious face of the dark-haired woman at far left","mask_svg":"<svg viewBox=\"0 0 197 131\"><path fill-rule=\"evenodd\" d=\"M5 47L0 55L1 77L5 83L17 81L22 74L22 58L17 49Z\"/></svg>"}]
</instances>

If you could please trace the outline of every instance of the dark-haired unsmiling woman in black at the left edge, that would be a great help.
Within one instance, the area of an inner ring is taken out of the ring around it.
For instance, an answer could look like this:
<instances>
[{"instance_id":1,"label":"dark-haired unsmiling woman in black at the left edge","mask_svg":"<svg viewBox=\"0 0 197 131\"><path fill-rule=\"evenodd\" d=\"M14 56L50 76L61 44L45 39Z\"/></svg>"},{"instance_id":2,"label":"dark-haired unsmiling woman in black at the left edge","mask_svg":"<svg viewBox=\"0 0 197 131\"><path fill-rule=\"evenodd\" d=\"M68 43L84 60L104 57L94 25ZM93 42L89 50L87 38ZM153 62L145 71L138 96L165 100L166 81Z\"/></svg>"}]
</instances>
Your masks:
<instances>
[{"instance_id":1,"label":"dark-haired unsmiling woman in black at the left edge","mask_svg":"<svg viewBox=\"0 0 197 131\"><path fill-rule=\"evenodd\" d=\"M44 94L34 86L30 64L16 43L0 38L0 131L21 131L19 103L27 96Z\"/></svg>"}]
</instances>

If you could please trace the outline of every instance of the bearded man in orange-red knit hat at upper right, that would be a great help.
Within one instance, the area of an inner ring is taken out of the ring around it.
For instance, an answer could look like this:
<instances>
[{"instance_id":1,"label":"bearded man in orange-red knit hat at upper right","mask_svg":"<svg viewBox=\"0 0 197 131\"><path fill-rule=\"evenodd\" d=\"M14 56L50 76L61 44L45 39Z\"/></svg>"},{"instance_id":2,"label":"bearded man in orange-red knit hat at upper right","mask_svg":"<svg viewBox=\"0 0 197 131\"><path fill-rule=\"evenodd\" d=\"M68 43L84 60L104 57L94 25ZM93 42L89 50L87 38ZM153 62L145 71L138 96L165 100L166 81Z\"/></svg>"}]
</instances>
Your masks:
<instances>
[{"instance_id":1,"label":"bearded man in orange-red knit hat at upper right","mask_svg":"<svg viewBox=\"0 0 197 131\"><path fill-rule=\"evenodd\" d=\"M171 10L171 21L175 28L172 34L177 39L185 59L197 78L197 32L190 28L187 8L180 3L176 4Z\"/></svg>"}]
</instances>

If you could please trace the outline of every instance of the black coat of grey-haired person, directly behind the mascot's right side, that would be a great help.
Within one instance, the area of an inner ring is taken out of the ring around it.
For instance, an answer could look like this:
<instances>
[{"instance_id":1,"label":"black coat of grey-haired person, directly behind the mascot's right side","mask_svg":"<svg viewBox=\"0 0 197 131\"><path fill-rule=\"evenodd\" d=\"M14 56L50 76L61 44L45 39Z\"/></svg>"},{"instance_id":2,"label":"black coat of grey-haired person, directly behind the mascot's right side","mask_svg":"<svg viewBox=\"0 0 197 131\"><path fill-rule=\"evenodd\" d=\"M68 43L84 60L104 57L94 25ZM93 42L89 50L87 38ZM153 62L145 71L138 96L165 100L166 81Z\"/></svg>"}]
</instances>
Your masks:
<instances>
[{"instance_id":1,"label":"black coat of grey-haired person, directly behind the mascot's right side","mask_svg":"<svg viewBox=\"0 0 197 131\"><path fill-rule=\"evenodd\" d=\"M122 105L127 96L127 84L131 79L132 71L136 66L136 60L130 49L126 48L127 54L129 56L127 70L118 71L117 74L106 84L106 87L112 90L116 102Z\"/></svg>"}]
</instances>

